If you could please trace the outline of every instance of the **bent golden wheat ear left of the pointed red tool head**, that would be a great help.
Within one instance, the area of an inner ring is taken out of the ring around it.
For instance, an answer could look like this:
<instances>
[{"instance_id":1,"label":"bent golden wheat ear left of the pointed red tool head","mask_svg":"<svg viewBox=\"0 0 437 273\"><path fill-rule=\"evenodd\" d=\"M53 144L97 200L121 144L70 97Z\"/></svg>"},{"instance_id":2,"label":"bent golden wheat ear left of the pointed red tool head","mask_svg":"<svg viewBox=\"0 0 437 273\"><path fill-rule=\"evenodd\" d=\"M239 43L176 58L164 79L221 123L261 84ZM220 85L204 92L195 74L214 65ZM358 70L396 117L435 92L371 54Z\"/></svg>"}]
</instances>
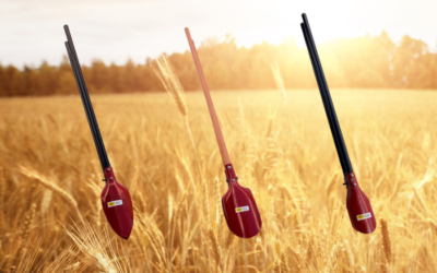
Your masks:
<instances>
[{"instance_id":1,"label":"bent golden wheat ear left of the pointed red tool head","mask_svg":"<svg viewBox=\"0 0 437 273\"><path fill-rule=\"evenodd\" d=\"M84 223L82 214L79 211L78 202L75 202L74 198L70 193L68 193L67 191L59 188L54 180L47 178L46 176L39 174L38 171L36 171L34 169L31 169L31 168L27 168L24 166L20 166L19 169L23 175L27 176L28 178L34 178L42 186L58 193L59 197L61 197L63 200L67 201L67 203L69 203L72 207L74 207L75 213L78 214L79 218L81 219L82 223Z\"/></svg>"}]
</instances>

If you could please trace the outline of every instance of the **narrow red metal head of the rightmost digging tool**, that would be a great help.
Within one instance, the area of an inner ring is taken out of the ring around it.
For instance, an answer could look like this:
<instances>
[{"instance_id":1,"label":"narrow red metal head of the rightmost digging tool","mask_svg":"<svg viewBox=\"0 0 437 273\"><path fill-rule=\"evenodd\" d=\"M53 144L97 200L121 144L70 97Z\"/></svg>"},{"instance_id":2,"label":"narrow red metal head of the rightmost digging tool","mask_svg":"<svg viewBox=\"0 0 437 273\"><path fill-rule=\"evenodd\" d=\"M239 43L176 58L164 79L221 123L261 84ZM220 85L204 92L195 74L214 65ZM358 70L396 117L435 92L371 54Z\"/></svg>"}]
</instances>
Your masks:
<instances>
[{"instance_id":1,"label":"narrow red metal head of the rightmost digging tool","mask_svg":"<svg viewBox=\"0 0 437 273\"><path fill-rule=\"evenodd\" d=\"M346 206L349 217L355 230L363 234L371 234L376 229L376 219L370 201L359 189L354 173L345 176L347 187Z\"/></svg>"}]
</instances>

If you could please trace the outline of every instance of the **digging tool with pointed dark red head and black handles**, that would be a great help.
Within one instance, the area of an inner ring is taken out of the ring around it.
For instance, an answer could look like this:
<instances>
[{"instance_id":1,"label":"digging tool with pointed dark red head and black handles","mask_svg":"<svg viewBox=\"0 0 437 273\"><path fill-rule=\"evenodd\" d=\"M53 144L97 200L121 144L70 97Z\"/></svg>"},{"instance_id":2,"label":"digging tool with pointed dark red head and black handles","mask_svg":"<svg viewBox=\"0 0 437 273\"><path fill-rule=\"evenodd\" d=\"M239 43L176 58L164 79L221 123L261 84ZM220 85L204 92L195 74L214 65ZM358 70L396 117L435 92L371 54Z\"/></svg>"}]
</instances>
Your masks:
<instances>
[{"instance_id":1,"label":"digging tool with pointed dark red head and black handles","mask_svg":"<svg viewBox=\"0 0 437 273\"><path fill-rule=\"evenodd\" d=\"M105 145L98 129L97 119L94 116L93 105L86 90L85 80L83 79L81 64L74 49L73 39L71 38L68 25L64 25L67 40L66 47L73 69L75 82L79 93L81 94L83 108L85 108L86 118L93 134L94 144L97 149L98 157L105 176L105 188L102 191L101 200L103 211L114 232L121 238L128 239L133 226L132 200L129 191L119 182L117 182L113 168L110 167L108 156L106 155Z\"/></svg>"}]
</instances>

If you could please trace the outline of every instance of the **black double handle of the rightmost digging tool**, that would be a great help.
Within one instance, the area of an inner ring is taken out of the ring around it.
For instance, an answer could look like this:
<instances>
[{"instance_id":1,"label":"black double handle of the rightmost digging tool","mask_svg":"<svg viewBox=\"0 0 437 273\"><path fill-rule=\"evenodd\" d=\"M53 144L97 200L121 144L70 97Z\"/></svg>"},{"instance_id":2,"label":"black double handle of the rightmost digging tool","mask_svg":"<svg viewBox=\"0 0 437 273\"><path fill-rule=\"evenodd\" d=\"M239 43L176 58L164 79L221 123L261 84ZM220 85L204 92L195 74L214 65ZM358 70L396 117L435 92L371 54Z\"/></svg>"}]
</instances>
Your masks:
<instances>
[{"instance_id":1,"label":"black double handle of the rightmost digging tool","mask_svg":"<svg viewBox=\"0 0 437 273\"><path fill-rule=\"evenodd\" d=\"M316 43L314 41L312 33L309 27L307 15L302 14L304 23L300 24L302 31L304 33L305 43L308 48L308 54L311 59L312 69L316 75L317 84L319 86L321 99L323 102L324 111L328 117L328 122L331 128L332 136L334 139L336 153L339 155L340 164L342 166L344 174L353 173L351 159L347 154L347 149L344 143L343 134L340 129L340 123L336 118L334 105L328 88L328 83L324 78L323 69L321 67L320 58L317 52Z\"/></svg>"}]
</instances>

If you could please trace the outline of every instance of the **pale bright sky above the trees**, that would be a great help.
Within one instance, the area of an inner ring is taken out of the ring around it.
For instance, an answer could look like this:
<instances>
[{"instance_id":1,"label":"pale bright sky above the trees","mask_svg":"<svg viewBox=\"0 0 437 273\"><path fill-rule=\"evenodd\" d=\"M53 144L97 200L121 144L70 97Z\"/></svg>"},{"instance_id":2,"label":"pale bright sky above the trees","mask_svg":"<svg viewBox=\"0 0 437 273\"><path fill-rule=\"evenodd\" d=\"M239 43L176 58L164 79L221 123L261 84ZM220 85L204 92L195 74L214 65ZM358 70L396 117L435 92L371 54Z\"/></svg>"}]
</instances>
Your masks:
<instances>
[{"instance_id":1,"label":"pale bright sky above the trees","mask_svg":"<svg viewBox=\"0 0 437 273\"><path fill-rule=\"evenodd\" d=\"M0 63L59 64L68 24L82 64L99 59L123 64L189 50L184 28L197 45L231 34L238 46L295 37L304 46L306 12L317 44L341 37L403 35L437 47L437 0L0 0Z\"/></svg>"}]
</instances>

